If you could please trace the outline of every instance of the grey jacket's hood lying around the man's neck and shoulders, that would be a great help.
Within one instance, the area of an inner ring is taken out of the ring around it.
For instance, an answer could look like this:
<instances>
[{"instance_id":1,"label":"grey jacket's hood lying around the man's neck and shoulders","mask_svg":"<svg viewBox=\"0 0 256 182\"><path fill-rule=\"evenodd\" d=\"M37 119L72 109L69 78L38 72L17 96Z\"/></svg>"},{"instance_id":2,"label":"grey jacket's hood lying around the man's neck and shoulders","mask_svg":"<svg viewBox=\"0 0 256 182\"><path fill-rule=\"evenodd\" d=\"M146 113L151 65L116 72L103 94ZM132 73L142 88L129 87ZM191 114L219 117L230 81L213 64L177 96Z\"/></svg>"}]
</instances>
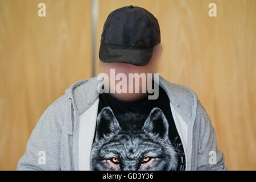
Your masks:
<instances>
[{"instance_id":1,"label":"grey jacket's hood lying around the man's neck and shoulders","mask_svg":"<svg viewBox=\"0 0 256 182\"><path fill-rule=\"evenodd\" d=\"M79 114L83 113L98 98L97 77L77 81L65 90L65 94L73 100ZM172 84L159 76L159 85L166 91L170 102L175 106L177 112L183 117L185 122L195 120L196 113L193 107L197 107L197 96L187 86Z\"/></svg>"}]
</instances>

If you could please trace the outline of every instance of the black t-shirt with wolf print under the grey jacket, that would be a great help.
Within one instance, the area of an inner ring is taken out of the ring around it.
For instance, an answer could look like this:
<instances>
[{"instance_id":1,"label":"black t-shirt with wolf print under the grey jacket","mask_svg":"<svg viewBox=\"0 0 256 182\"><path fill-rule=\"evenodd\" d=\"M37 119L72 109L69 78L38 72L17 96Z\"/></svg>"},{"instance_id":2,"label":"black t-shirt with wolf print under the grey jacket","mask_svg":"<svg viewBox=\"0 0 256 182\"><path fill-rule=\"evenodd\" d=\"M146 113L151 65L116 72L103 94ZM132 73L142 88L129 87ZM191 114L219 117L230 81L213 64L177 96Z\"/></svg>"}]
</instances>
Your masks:
<instances>
[{"instance_id":1,"label":"black t-shirt with wolf print under the grey jacket","mask_svg":"<svg viewBox=\"0 0 256 182\"><path fill-rule=\"evenodd\" d=\"M93 170L184 170L185 155L170 100L121 101L99 96L97 127L90 156Z\"/></svg>"}]
</instances>

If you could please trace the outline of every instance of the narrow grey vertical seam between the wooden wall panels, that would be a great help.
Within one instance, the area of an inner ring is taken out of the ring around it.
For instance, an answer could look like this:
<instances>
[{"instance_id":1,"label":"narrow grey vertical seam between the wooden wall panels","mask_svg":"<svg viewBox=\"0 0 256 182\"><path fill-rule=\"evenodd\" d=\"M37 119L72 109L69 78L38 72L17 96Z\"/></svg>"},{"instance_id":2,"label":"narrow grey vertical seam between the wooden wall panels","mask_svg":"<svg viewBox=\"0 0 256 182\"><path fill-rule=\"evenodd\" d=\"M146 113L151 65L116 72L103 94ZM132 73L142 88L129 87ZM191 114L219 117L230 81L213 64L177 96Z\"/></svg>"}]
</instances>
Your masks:
<instances>
[{"instance_id":1,"label":"narrow grey vertical seam between the wooden wall panels","mask_svg":"<svg viewBox=\"0 0 256 182\"><path fill-rule=\"evenodd\" d=\"M96 76L98 0L92 0L92 77Z\"/></svg>"}]
</instances>

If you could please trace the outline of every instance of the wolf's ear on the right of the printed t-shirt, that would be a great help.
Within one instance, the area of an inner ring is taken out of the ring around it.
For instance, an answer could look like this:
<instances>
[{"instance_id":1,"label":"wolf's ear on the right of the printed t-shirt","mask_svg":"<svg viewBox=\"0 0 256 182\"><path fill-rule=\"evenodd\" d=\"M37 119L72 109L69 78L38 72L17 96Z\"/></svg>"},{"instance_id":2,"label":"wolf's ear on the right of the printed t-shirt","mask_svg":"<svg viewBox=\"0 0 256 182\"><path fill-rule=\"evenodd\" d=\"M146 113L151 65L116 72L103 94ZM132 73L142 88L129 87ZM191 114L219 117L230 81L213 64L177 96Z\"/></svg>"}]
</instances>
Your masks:
<instances>
[{"instance_id":1,"label":"wolf's ear on the right of the printed t-shirt","mask_svg":"<svg viewBox=\"0 0 256 182\"><path fill-rule=\"evenodd\" d=\"M169 124L163 114L163 111L158 107L151 110L148 115L142 130L147 133L158 135L160 138L168 137Z\"/></svg>"}]
</instances>

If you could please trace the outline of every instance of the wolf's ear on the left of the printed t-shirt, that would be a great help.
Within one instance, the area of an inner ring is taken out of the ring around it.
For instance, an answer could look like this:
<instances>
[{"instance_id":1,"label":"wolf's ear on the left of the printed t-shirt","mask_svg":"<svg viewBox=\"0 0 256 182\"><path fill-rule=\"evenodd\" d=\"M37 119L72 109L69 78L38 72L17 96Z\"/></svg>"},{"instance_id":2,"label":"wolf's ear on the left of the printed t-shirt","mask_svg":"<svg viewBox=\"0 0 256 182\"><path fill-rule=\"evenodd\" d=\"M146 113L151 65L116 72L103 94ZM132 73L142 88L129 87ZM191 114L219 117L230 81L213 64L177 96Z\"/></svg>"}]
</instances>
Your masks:
<instances>
[{"instance_id":1,"label":"wolf's ear on the left of the printed t-shirt","mask_svg":"<svg viewBox=\"0 0 256 182\"><path fill-rule=\"evenodd\" d=\"M110 107L104 107L97 117L96 139L101 139L119 130L121 130L121 127L112 109Z\"/></svg>"}]
</instances>

